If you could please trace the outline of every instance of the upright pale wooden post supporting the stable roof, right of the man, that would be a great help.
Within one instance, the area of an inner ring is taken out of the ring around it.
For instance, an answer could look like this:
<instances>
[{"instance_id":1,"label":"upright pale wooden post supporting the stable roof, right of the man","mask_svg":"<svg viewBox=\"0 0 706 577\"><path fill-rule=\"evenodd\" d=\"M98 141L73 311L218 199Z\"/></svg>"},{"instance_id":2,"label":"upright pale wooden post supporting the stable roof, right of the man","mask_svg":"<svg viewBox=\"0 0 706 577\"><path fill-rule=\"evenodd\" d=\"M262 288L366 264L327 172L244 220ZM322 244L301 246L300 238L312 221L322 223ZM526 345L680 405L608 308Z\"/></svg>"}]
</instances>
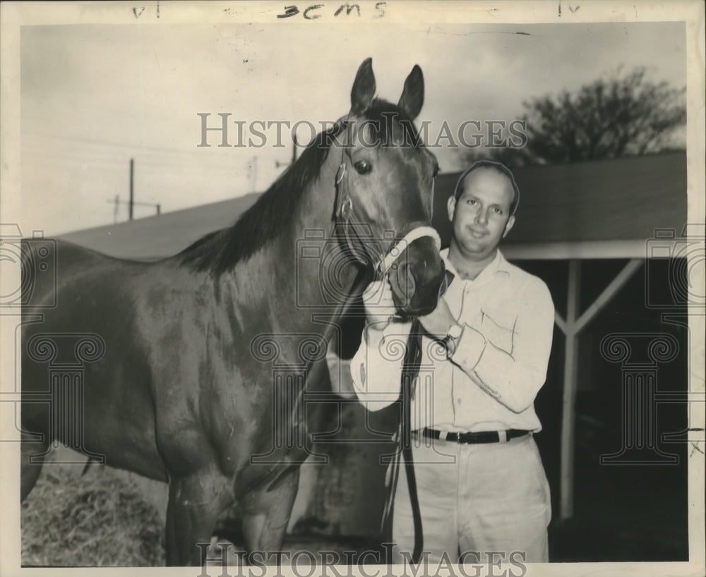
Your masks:
<instances>
[{"instance_id":1,"label":"upright pale wooden post supporting the stable roof, right of the man","mask_svg":"<svg viewBox=\"0 0 706 577\"><path fill-rule=\"evenodd\" d=\"M581 261L569 261L566 331L564 341L564 382L561 405L561 480L560 515L573 516L573 458L576 377L578 375L578 334L575 329L581 288Z\"/></svg>"}]
</instances>

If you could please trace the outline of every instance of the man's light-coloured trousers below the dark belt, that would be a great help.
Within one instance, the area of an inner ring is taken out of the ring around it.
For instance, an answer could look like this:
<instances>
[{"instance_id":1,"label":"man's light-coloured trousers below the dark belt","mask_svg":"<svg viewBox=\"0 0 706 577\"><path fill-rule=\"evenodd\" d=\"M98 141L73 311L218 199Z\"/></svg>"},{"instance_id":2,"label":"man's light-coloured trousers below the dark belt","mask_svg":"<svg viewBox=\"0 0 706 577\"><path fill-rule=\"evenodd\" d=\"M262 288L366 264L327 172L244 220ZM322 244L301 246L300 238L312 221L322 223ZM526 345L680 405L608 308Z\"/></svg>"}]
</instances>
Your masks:
<instances>
[{"instance_id":1,"label":"man's light-coloured trousers below the dark belt","mask_svg":"<svg viewBox=\"0 0 706 577\"><path fill-rule=\"evenodd\" d=\"M514 554L526 562L549 560L549 483L532 435L504 443L459 444L412 435L414 474L429 563L465 562ZM414 549L414 523L405 463L395 492L393 562ZM498 555L497 553L500 553ZM464 558L462 557L462 561Z\"/></svg>"}]
</instances>

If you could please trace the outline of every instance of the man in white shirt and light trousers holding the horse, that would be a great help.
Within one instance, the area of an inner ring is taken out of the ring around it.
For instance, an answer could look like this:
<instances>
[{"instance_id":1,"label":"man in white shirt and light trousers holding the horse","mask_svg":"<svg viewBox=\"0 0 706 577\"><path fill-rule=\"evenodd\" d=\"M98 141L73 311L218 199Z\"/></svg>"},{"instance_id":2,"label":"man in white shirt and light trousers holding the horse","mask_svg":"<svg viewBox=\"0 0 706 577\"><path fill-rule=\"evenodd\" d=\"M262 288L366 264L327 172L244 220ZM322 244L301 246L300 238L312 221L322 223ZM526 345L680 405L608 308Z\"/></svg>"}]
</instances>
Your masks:
<instances>
[{"instance_id":1,"label":"man in white shirt and light trousers holding the horse","mask_svg":"<svg viewBox=\"0 0 706 577\"><path fill-rule=\"evenodd\" d=\"M453 233L441 255L453 280L419 319L426 333L410 419L429 561L548 557L549 485L532 435L542 428L534 397L546 377L554 305L543 281L498 250L518 202L512 173L491 161L467 169L448 200ZM351 374L361 403L376 411L400 395L411 323L391 317L387 281L373 283L364 300L368 323ZM414 545L404 467L393 511L401 563Z\"/></svg>"}]
</instances>

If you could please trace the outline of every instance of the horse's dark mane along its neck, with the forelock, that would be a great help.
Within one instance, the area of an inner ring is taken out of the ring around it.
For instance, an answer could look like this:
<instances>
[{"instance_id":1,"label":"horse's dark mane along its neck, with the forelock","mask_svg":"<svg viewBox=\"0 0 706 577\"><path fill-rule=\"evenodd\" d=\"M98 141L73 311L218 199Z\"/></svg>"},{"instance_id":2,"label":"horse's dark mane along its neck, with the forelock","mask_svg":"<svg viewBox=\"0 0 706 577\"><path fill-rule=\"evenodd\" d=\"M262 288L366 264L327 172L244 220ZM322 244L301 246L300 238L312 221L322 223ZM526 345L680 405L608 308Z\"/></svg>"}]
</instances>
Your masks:
<instances>
[{"instance_id":1,"label":"horse's dark mane along its neck, with the forelock","mask_svg":"<svg viewBox=\"0 0 706 577\"><path fill-rule=\"evenodd\" d=\"M419 134L407 113L377 98L365 113L365 119L372 121L369 125L372 138L380 142L393 138L388 134L386 116L390 114L395 114L402 121L392 123L392 126L402 126L402 134L408 139L406 142L419 145ZM378 126L380 130L376 130ZM277 178L254 205L241 214L233 226L208 233L182 250L177 255L179 265L222 274L240 260L247 260L268 241L277 238L291 221L304 190L318 178L321 166L328 157L331 140L340 135L344 128L343 123L337 122L333 128L319 133L299 159Z\"/></svg>"}]
</instances>

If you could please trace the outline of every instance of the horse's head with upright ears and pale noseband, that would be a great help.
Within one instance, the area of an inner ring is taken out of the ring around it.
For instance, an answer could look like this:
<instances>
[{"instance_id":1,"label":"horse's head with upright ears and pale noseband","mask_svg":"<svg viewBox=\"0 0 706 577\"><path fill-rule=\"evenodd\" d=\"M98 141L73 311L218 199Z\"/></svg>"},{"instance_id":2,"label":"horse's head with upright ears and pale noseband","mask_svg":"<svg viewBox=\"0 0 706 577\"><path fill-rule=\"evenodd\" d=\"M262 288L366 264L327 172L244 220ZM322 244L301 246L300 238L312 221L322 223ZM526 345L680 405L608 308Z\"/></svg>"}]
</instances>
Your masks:
<instances>
[{"instance_id":1,"label":"horse's head with upright ears and pale noseband","mask_svg":"<svg viewBox=\"0 0 706 577\"><path fill-rule=\"evenodd\" d=\"M438 164L413 123L424 102L421 68L412 68L396 106L376 99L375 89L367 59L336 138L337 222L350 252L389 274L398 310L424 315L436 308L445 274L431 229Z\"/></svg>"}]
</instances>

